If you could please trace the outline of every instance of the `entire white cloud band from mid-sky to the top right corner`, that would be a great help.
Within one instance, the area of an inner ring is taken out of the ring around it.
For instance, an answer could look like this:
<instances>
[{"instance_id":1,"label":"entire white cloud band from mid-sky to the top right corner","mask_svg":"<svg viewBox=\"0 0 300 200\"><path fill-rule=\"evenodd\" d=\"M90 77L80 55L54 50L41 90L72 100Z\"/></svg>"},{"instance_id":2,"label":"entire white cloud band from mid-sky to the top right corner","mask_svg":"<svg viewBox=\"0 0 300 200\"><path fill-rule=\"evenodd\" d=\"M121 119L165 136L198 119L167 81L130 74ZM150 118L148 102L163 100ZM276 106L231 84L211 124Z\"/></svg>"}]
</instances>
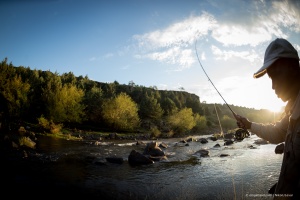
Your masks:
<instances>
[{"instance_id":1,"label":"entire white cloud band from mid-sky to the top right corner","mask_svg":"<svg viewBox=\"0 0 300 200\"><path fill-rule=\"evenodd\" d=\"M271 41L274 37L288 38L289 32L300 32L299 4L292 4L287 0L247 2L238 4L241 6L236 7L238 12L233 12L226 3L215 4L220 12L222 6L228 11L214 15L206 11L200 16L190 16L164 29L134 35L133 39L137 41L139 48L135 57L171 64L176 66L175 70L180 71L190 68L196 61L193 53L194 42L202 40L207 45L207 39L212 38L210 42L217 43L209 45L212 45L211 50L216 59L242 58L257 62L261 59L262 50L254 50L255 47ZM245 10L242 12L242 9ZM232 50L224 50L224 47ZM202 60L205 59L204 55L202 53Z\"/></svg>"}]
</instances>

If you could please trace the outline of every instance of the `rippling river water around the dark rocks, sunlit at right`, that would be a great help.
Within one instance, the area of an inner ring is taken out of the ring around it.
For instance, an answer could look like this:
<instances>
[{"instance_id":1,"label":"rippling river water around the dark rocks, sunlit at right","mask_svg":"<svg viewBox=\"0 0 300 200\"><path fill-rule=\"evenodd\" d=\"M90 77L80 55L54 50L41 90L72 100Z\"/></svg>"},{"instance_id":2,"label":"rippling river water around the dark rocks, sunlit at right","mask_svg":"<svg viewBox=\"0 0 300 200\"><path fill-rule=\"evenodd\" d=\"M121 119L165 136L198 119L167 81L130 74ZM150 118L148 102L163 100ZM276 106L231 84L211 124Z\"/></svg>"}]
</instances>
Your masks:
<instances>
[{"instance_id":1,"label":"rippling river water around the dark rocks, sunlit at right","mask_svg":"<svg viewBox=\"0 0 300 200\"><path fill-rule=\"evenodd\" d=\"M26 169L35 175L21 170L13 184L100 199L272 199L268 189L278 179L282 155L274 153L276 145L255 144L257 139L252 135L230 146L223 140L188 145L180 138L157 140L168 145L162 149L168 160L131 166L130 152L143 153L145 148L136 141L96 144L40 137L36 156L44 165L27 163ZM209 156L201 157L196 153L200 149L208 150ZM109 163L106 157L121 157L124 162Z\"/></svg>"}]
</instances>

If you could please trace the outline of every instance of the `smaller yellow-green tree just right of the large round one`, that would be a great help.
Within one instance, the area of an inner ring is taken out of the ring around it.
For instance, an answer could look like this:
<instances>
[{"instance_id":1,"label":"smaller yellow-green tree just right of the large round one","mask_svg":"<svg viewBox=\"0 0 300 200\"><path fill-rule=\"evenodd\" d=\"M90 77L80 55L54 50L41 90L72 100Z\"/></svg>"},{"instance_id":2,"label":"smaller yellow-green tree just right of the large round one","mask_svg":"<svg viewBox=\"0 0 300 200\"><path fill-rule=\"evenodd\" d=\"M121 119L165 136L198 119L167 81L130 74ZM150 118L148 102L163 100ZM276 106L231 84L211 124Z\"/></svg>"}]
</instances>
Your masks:
<instances>
[{"instance_id":1,"label":"smaller yellow-green tree just right of the large round one","mask_svg":"<svg viewBox=\"0 0 300 200\"><path fill-rule=\"evenodd\" d=\"M179 112L169 116L167 121L176 133L184 133L196 125L191 108L181 109Z\"/></svg>"}]
</instances>

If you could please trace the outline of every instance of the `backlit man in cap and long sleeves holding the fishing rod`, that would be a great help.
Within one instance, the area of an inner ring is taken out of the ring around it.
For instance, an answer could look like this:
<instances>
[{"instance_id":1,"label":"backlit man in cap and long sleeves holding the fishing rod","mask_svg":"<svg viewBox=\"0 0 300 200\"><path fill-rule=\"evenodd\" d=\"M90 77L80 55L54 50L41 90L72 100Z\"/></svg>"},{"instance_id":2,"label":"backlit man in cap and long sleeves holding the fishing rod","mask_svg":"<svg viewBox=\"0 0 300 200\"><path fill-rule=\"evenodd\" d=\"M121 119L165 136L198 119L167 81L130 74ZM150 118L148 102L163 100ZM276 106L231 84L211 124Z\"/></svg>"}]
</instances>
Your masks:
<instances>
[{"instance_id":1,"label":"backlit man in cap and long sleeves holding the fishing rod","mask_svg":"<svg viewBox=\"0 0 300 200\"><path fill-rule=\"evenodd\" d=\"M237 115L237 125L270 143L284 142L274 199L300 199L300 66L298 52L287 40L277 38L269 44L264 64L253 76L266 73L278 98L287 102L285 116L275 124L258 124Z\"/></svg>"}]
</instances>

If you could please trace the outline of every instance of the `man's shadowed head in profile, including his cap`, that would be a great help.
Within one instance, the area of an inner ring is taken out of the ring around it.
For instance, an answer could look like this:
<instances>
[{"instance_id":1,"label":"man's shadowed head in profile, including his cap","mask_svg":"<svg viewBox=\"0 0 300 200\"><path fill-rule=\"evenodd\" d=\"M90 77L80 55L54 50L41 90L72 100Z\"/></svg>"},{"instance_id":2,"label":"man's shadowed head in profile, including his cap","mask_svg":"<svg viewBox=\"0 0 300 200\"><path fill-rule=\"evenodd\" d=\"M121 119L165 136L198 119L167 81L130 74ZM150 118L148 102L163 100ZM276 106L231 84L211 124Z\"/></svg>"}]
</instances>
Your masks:
<instances>
[{"instance_id":1,"label":"man's shadowed head in profile, including his cap","mask_svg":"<svg viewBox=\"0 0 300 200\"><path fill-rule=\"evenodd\" d=\"M277 38L266 49L263 66L254 78L268 74L272 89L286 102L295 98L300 89L300 66L297 50L286 39Z\"/></svg>"}]
</instances>

